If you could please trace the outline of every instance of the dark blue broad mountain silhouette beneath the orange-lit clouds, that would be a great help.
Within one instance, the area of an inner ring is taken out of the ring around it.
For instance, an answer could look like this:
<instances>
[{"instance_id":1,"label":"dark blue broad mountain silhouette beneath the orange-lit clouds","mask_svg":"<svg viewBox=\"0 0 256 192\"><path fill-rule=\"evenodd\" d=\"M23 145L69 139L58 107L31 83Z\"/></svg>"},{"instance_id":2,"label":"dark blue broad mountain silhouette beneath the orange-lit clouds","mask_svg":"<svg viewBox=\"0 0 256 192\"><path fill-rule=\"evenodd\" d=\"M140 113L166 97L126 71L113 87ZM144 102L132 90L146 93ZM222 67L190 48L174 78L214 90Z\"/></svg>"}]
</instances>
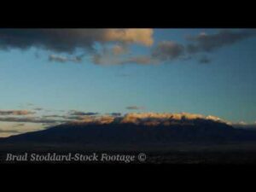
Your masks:
<instances>
[{"instance_id":1,"label":"dark blue broad mountain silhouette beneath the orange-lit clouds","mask_svg":"<svg viewBox=\"0 0 256 192\"><path fill-rule=\"evenodd\" d=\"M256 141L256 131L235 129L210 119L180 121L172 125L136 125L132 123L57 125L4 138L1 143L57 144L169 144L222 143Z\"/></svg>"}]
</instances>

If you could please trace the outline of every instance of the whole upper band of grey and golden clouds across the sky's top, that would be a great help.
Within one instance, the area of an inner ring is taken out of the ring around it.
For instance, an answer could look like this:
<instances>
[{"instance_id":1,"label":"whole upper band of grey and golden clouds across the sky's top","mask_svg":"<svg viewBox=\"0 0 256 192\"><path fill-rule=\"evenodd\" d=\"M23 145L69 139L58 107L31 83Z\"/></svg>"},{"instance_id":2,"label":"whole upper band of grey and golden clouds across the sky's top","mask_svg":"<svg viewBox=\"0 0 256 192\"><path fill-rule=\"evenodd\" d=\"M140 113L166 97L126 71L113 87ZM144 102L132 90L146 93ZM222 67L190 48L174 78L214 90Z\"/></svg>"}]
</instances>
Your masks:
<instances>
[{"instance_id":1,"label":"whole upper band of grey and golden clouds across the sky's top","mask_svg":"<svg viewBox=\"0 0 256 192\"><path fill-rule=\"evenodd\" d=\"M49 61L80 62L84 55L98 65L154 65L171 61L196 59L195 54L210 53L243 39L256 36L255 29L201 32L187 37L186 44L166 40L154 44L154 30L125 29L0 29L0 49L47 49ZM131 44L150 47L148 54L131 54ZM154 45L154 46L153 46ZM82 55L74 55L82 49ZM65 55L63 55L65 53ZM73 55L71 55L73 54ZM200 63L209 63L207 57Z\"/></svg>"}]
</instances>

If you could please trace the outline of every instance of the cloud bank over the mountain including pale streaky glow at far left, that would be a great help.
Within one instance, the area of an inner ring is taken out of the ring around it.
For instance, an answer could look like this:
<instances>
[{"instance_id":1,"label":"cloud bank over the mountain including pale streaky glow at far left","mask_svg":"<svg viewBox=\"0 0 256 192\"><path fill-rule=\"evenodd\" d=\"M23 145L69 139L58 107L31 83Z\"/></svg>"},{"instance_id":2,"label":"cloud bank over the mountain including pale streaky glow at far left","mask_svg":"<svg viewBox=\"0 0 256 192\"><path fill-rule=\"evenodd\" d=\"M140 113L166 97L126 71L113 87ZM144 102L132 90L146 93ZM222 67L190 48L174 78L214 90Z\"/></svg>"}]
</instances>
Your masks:
<instances>
[{"instance_id":1,"label":"cloud bank over the mountain including pale streaky glow at far left","mask_svg":"<svg viewBox=\"0 0 256 192\"><path fill-rule=\"evenodd\" d=\"M140 107L130 106L130 110L139 110ZM193 125L195 121L207 120L212 122L232 125L237 128L254 128L254 124L232 123L213 115L202 115L197 113L96 113L70 110L62 113L40 114L41 110L1 110L0 122L2 129L0 137L8 137L28 131L38 131L48 127L61 124L74 125L143 125L143 126L172 126L172 125ZM29 115L30 114L30 115ZM29 115L29 116L27 116ZM8 124L9 128L5 128ZM35 127L33 129L33 127ZM1 128L1 127L0 127ZM4 129L3 129L4 128Z\"/></svg>"}]
</instances>

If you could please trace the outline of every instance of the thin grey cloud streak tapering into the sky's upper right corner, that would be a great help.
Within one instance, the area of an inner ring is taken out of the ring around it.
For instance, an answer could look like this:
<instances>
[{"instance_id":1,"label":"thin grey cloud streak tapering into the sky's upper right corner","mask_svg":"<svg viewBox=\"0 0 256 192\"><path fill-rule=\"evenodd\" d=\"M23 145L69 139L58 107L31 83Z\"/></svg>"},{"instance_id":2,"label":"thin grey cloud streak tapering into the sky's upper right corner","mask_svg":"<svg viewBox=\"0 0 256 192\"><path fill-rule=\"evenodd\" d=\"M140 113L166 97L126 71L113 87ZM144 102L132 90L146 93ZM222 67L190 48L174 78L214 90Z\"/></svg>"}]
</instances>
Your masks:
<instances>
[{"instance_id":1,"label":"thin grey cloud streak tapering into the sky's upper right corner","mask_svg":"<svg viewBox=\"0 0 256 192\"><path fill-rule=\"evenodd\" d=\"M201 32L197 36L189 36L187 40L192 42L188 44L187 50L190 54L198 52L212 52L224 46L236 44L237 42L256 36L254 29L245 29L240 31L221 30L215 34Z\"/></svg>"}]
</instances>

